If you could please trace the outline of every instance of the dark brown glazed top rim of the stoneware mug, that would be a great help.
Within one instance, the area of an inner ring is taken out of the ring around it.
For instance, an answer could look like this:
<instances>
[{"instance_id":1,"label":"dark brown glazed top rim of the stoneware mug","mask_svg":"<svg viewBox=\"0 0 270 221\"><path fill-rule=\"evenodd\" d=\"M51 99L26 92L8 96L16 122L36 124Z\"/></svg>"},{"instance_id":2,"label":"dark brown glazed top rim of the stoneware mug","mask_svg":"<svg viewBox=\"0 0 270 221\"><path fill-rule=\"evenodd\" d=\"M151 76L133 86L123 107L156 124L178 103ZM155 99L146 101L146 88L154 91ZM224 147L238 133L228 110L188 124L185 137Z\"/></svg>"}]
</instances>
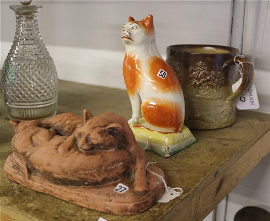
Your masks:
<instances>
[{"instance_id":1,"label":"dark brown glazed top rim of the stoneware mug","mask_svg":"<svg viewBox=\"0 0 270 221\"><path fill-rule=\"evenodd\" d=\"M192 49L192 48L215 48L215 49L224 49L228 52L225 53L200 53L200 52L192 52L192 51L183 51L183 49ZM198 54L198 55L226 55L231 53L238 53L239 50L237 48L233 48L230 46L224 46L224 45L204 45L204 44L188 44L188 45L169 45L167 49L172 50L177 53L188 53L188 54Z\"/></svg>"}]
</instances>

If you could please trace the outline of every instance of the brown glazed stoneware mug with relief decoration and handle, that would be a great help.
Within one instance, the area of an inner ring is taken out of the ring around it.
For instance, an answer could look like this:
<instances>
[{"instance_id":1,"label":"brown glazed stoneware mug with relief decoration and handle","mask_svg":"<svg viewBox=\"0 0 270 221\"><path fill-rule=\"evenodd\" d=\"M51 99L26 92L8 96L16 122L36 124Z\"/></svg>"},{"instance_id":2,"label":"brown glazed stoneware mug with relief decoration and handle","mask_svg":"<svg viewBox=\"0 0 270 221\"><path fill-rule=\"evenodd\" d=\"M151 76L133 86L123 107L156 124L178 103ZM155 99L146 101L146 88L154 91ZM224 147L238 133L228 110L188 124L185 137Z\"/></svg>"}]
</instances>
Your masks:
<instances>
[{"instance_id":1,"label":"brown glazed stoneware mug with relief decoration and handle","mask_svg":"<svg viewBox=\"0 0 270 221\"><path fill-rule=\"evenodd\" d=\"M167 63L181 83L185 97L185 125L193 129L216 129L235 122L235 100L250 86L253 65L239 50L218 45L171 45ZM232 85L242 83L233 93Z\"/></svg>"}]
</instances>

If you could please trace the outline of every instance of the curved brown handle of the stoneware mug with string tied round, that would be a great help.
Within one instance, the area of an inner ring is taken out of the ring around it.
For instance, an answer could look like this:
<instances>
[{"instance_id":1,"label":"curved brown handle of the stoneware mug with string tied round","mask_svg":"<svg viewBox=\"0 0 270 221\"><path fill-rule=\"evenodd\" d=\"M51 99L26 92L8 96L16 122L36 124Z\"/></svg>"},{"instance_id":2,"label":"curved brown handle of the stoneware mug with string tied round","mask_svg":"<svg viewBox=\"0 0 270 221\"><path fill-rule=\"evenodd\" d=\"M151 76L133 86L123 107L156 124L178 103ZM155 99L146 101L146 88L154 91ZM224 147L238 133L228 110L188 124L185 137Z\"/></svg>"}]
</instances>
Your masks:
<instances>
[{"instance_id":1,"label":"curved brown handle of the stoneware mug with string tied round","mask_svg":"<svg viewBox=\"0 0 270 221\"><path fill-rule=\"evenodd\" d=\"M254 72L251 61L245 56L237 56L235 57L235 61L239 63L239 66L242 69L242 82L237 90L226 99L226 101L229 102L236 100L241 94L243 94L243 92L251 85L253 80Z\"/></svg>"}]
</instances>

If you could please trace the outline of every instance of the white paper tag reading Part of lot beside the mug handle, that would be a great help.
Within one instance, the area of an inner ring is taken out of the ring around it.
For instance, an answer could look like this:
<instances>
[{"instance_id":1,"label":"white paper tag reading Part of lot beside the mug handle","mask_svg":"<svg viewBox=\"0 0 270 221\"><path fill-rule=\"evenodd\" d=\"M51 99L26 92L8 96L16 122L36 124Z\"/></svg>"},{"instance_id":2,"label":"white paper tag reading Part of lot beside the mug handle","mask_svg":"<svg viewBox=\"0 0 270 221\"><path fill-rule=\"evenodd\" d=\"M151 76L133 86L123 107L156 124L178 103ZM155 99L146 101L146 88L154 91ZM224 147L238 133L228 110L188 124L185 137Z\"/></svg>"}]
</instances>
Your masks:
<instances>
[{"instance_id":1,"label":"white paper tag reading Part of lot beside the mug handle","mask_svg":"<svg viewBox=\"0 0 270 221\"><path fill-rule=\"evenodd\" d=\"M232 85L233 92L235 92L240 86L241 81L242 79ZM243 93L239 98L236 99L236 107L239 110L258 109L260 107L254 83L251 84L251 86L245 91L245 93Z\"/></svg>"}]
</instances>

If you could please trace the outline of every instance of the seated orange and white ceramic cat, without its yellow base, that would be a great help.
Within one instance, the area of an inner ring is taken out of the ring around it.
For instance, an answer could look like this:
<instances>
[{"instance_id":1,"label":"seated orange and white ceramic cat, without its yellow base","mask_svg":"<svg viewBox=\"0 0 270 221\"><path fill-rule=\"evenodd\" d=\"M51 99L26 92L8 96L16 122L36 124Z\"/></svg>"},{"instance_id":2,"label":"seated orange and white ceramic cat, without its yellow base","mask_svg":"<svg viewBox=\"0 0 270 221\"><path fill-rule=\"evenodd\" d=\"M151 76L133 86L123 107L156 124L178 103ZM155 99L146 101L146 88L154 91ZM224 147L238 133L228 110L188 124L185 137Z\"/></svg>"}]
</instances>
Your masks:
<instances>
[{"instance_id":1,"label":"seated orange and white ceramic cat, without its yellow base","mask_svg":"<svg viewBox=\"0 0 270 221\"><path fill-rule=\"evenodd\" d=\"M153 16L129 17L122 39L126 47L124 80L132 105L132 123L163 133L181 132L185 103L180 83L158 52Z\"/></svg>"}]
</instances>

